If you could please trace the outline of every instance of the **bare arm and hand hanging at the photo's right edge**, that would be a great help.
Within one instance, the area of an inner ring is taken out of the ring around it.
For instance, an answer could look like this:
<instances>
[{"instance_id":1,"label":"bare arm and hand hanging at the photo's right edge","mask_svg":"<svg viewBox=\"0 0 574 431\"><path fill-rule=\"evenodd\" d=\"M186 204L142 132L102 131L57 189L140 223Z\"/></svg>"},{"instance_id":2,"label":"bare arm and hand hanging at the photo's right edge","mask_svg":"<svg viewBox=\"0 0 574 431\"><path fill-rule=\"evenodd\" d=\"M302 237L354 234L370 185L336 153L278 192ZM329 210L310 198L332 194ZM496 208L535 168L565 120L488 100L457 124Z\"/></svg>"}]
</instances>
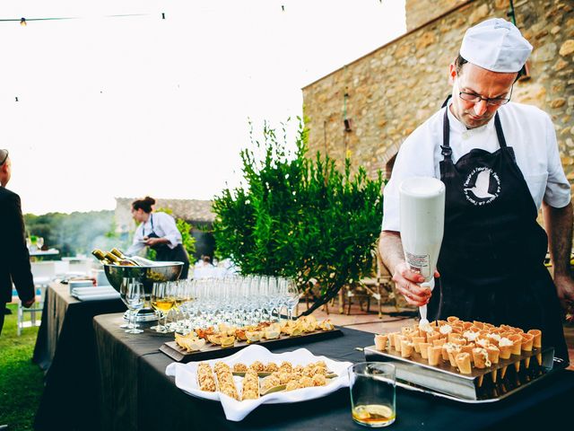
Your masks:
<instances>
[{"instance_id":1,"label":"bare arm and hand hanging at the photo's right edge","mask_svg":"<svg viewBox=\"0 0 574 431\"><path fill-rule=\"evenodd\" d=\"M570 253L572 251L572 204L555 208L543 202L544 227L548 234L548 245L554 284L562 305L574 302L574 280L570 274Z\"/></svg>"}]
</instances>

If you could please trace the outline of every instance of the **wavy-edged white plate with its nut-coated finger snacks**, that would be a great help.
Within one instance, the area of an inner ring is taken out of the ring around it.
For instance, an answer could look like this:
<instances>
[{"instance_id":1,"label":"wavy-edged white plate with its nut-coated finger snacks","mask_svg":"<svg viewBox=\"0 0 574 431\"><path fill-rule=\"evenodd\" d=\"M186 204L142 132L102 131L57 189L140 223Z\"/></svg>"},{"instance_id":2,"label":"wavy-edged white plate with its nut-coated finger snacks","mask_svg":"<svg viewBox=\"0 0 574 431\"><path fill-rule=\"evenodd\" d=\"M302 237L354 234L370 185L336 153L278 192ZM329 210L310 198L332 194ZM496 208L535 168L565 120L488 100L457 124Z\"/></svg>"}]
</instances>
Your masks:
<instances>
[{"instance_id":1,"label":"wavy-edged white plate with its nut-coated finger snacks","mask_svg":"<svg viewBox=\"0 0 574 431\"><path fill-rule=\"evenodd\" d=\"M274 354L251 345L221 360L172 363L166 374L187 394L221 402L225 417L239 421L261 404L314 400L349 386L351 365L305 348Z\"/></svg>"}]
</instances>

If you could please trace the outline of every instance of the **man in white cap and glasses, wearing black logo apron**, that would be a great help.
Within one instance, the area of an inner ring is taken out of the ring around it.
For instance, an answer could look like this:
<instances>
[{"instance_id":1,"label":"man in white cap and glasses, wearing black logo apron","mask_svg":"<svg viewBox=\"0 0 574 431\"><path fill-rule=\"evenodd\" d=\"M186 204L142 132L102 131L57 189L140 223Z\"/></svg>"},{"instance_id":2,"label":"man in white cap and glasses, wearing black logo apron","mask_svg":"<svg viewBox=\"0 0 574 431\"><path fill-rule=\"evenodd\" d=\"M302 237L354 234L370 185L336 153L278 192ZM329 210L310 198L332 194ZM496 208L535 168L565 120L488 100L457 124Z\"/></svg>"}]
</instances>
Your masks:
<instances>
[{"instance_id":1,"label":"man in white cap and glasses, wearing black logo apron","mask_svg":"<svg viewBox=\"0 0 574 431\"><path fill-rule=\"evenodd\" d=\"M384 190L380 254L408 303L428 303L429 320L543 330L545 345L568 361L561 304L574 300L570 276L572 206L552 120L511 102L532 46L495 18L465 32L449 66L452 94L404 141ZM404 260L398 188L431 176L446 186L445 231L436 287ZM544 229L536 222L542 207ZM544 268L550 244L554 280Z\"/></svg>"}]
</instances>

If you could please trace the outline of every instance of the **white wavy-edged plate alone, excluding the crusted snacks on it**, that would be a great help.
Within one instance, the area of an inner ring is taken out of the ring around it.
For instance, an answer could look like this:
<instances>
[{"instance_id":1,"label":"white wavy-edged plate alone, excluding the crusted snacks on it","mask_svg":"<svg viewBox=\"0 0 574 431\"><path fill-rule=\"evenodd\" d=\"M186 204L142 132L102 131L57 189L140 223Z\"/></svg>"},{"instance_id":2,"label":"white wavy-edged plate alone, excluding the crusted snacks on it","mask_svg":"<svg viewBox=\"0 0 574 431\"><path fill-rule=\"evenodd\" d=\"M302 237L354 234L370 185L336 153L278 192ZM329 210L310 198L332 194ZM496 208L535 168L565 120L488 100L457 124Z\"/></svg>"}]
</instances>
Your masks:
<instances>
[{"instance_id":1,"label":"white wavy-edged plate alone, excluding the crusted snacks on it","mask_svg":"<svg viewBox=\"0 0 574 431\"><path fill-rule=\"evenodd\" d=\"M326 356L315 356L306 348L299 348L292 352L275 354L271 353L265 347L258 346L256 344L245 347L239 350L236 354L225 358L201 362L206 362L213 367L213 365L219 361L230 365L231 368L233 368L233 365L238 362L249 365L255 361L261 361L264 364L274 362L275 364L280 365L283 361L288 361L291 362L292 365L307 365L311 362L325 361L329 371L338 374L337 377L331 379L330 383L326 384L326 386L314 386L295 391L279 391L264 395L257 400L238 401L221 392L207 392L199 390L196 371L197 365L200 362L190 362L187 364L178 364L174 362L168 365L165 370L165 374L175 376L176 386L178 386L179 389L197 398L203 398L205 400L220 400L222 402L223 411L225 412L225 418L236 422L248 416L251 411L257 409L261 404L278 404L283 402L314 400L316 398L324 397L331 392L335 392L340 388L348 387L349 376L347 374L347 368L352 365L350 362L337 362ZM242 377L234 376L235 385L239 393L241 393L242 379Z\"/></svg>"}]
</instances>

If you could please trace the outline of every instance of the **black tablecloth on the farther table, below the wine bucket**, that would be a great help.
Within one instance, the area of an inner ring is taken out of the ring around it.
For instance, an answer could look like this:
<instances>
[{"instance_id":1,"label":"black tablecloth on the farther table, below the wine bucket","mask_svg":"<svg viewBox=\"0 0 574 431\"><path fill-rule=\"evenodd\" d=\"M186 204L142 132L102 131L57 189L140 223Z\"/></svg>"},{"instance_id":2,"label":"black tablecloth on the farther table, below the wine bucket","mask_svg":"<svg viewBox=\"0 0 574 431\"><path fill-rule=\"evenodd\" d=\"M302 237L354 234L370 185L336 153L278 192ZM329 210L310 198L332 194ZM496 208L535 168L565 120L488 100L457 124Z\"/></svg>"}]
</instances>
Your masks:
<instances>
[{"instance_id":1,"label":"black tablecloth on the farther table, below the wine bucket","mask_svg":"<svg viewBox=\"0 0 574 431\"><path fill-rule=\"evenodd\" d=\"M99 371L93 317L122 312L120 299L80 302L59 283L48 287L33 361L48 369L37 430L100 429Z\"/></svg>"}]
</instances>

